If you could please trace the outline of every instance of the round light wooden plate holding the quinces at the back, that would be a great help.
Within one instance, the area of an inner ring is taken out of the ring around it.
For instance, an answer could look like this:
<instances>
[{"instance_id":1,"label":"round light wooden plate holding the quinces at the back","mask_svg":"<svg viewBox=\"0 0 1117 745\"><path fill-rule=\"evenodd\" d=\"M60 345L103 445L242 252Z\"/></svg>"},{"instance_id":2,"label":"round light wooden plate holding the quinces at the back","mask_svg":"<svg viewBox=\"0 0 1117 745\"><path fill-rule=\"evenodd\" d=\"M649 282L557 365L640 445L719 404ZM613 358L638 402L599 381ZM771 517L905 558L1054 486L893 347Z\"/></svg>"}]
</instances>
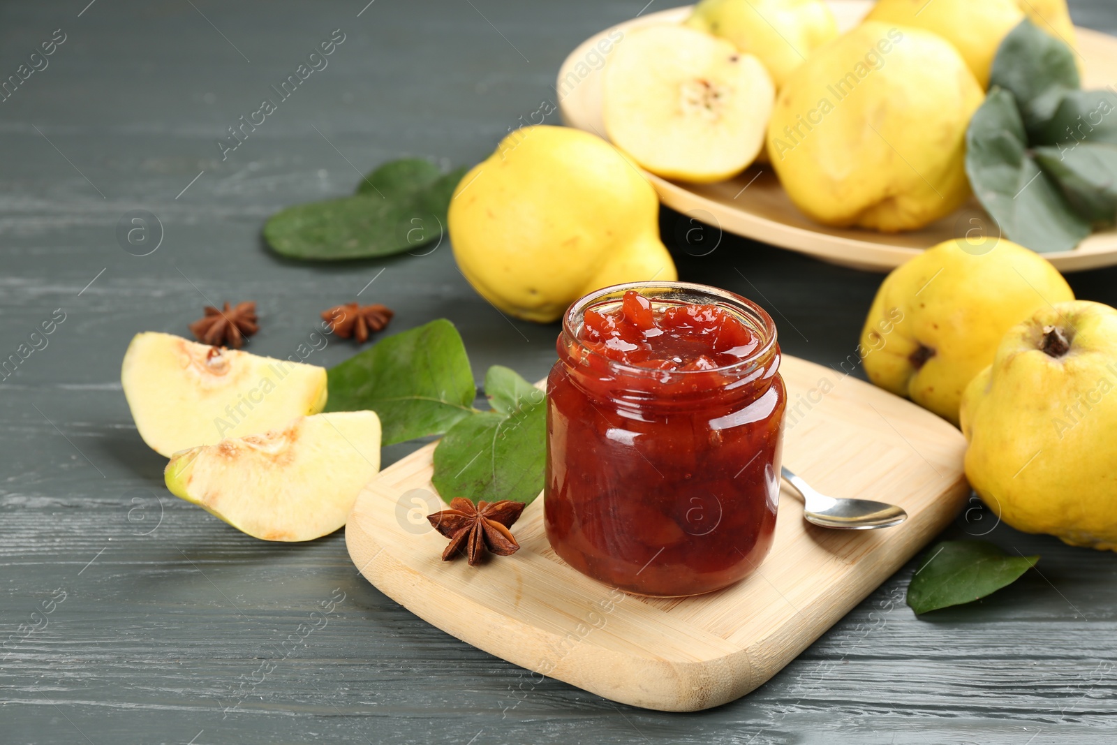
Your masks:
<instances>
[{"instance_id":1,"label":"round light wooden plate holding the quinces at the back","mask_svg":"<svg viewBox=\"0 0 1117 745\"><path fill-rule=\"evenodd\" d=\"M860 22L872 2L829 0L829 6L839 27L846 30ZM617 31L623 34L641 26L679 23L690 15L690 8L671 8L619 23L586 39L570 52L558 70L555 87L563 121L608 139L601 114L603 64L600 49L614 48ZM1076 32L1078 50L1086 66L1082 87L1104 88L1111 85L1117 79L1117 39L1083 28L1076 29ZM613 35L611 39L610 35ZM599 47L599 44L603 46ZM881 233L857 228L828 228L812 222L791 203L767 164L756 164L735 179L713 184L687 184L650 173L647 175L665 204L701 222L825 261L870 271L890 270L925 248L951 238L973 235L968 232L971 230L978 230L981 235L997 235L996 222L973 198L954 214L922 230ZM1117 264L1117 231L1094 233L1072 251L1043 256L1060 271L1110 266Z\"/></svg>"}]
</instances>

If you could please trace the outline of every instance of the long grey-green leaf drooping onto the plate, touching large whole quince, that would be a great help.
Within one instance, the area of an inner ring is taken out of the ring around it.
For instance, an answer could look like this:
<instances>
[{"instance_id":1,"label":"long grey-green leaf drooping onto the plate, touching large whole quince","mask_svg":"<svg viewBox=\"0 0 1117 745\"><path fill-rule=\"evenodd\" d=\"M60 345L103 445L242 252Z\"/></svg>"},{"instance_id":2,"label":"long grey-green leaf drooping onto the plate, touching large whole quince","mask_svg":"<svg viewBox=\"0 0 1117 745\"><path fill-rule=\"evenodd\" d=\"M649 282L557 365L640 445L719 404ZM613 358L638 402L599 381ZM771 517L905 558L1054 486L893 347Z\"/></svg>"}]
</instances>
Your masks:
<instances>
[{"instance_id":1,"label":"long grey-green leaf drooping onto the plate, touching large whole quince","mask_svg":"<svg viewBox=\"0 0 1117 745\"><path fill-rule=\"evenodd\" d=\"M993 88L966 132L966 174L1004 237L1033 251L1068 251L1090 233L1028 151L1013 95Z\"/></svg>"}]
</instances>

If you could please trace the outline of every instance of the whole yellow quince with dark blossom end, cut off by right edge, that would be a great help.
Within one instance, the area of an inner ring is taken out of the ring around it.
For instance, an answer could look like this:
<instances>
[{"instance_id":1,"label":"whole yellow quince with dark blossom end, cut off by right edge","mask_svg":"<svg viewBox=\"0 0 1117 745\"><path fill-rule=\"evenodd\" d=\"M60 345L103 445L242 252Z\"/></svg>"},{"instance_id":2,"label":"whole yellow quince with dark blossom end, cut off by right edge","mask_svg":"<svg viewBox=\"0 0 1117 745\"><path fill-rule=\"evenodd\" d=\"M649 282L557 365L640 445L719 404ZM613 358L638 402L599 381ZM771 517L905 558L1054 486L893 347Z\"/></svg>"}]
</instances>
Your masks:
<instances>
[{"instance_id":1,"label":"whole yellow quince with dark blossom end, cut off by right edge","mask_svg":"<svg viewBox=\"0 0 1117 745\"><path fill-rule=\"evenodd\" d=\"M1117 550L1117 311L1044 305L966 388L966 477L1005 523Z\"/></svg>"}]
</instances>

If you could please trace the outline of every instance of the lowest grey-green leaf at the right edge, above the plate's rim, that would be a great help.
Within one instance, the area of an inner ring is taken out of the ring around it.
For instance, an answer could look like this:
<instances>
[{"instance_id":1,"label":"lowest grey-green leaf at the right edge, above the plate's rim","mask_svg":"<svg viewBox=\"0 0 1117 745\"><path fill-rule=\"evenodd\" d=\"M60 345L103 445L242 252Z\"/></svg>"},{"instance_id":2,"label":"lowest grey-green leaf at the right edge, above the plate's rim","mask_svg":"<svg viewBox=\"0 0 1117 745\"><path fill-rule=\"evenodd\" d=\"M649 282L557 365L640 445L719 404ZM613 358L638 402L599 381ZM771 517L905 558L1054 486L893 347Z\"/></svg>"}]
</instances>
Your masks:
<instances>
[{"instance_id":1,"label":"lowest grey-green leaf at the right edge, above the plate's rim","mask_svg":"<svg viewBox=\"0 0 1117 745\"><path fill-rule=\"evenodd\" d=\"M1073 210L1095 226L1117 219L1117 147L1091 142L1037 147L1035 160Z\"/></svg>"}]
</instances>

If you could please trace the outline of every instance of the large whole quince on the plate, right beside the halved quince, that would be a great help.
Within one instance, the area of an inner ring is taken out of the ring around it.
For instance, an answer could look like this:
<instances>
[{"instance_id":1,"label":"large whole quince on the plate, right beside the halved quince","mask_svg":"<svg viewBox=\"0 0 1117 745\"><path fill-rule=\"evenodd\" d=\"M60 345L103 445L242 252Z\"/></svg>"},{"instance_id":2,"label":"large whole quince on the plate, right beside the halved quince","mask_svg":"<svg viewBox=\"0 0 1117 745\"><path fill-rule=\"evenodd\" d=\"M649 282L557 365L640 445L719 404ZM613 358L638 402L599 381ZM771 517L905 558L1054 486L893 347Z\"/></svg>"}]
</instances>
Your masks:
<instances>
[{"instance_id":1,"label":"large whole quince on the plate, right beside the halved quince","mask_svg":"<svg viewBox=\"0 0 1117 745\"><path fill-rule=\"evenodd\" d=\"M970 195L965 134L982 99L949 42L870 21L792 73L776 97L767 152L813 220L913 230Z\"/></svg>"}]
</instances>

